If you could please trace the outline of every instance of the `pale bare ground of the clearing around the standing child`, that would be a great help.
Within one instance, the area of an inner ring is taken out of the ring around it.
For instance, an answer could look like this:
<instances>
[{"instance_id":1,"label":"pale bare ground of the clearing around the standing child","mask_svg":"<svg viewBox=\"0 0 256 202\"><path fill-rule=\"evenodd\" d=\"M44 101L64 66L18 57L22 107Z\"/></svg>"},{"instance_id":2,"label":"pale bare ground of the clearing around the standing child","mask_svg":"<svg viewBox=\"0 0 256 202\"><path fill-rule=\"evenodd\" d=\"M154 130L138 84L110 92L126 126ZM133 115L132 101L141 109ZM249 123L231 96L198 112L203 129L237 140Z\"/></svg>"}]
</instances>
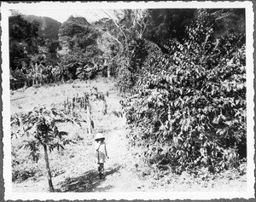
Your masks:
<instances>
[{"instance_id":1,"label":"pale bare ground of the clearing around the standing child","mask_svg":"<svg viewBox=\"0 0 256 202\"><path fill-rule=\"evenodd\" d=\"M68 145L63 151L49 153L56 192L246 191L247 177L239 175L236 170L226 170L214 176L207 175L207 170L205 176L191 176L187 172L175 175L170 170L160 172L145 164L139 155L140 149L129 147L125 118L118 118L112 113L121 110L119 101L122 99L114 84L113 79L99 77L87 82L73 81L71 84L52 84L11 92L11 114L14 114L27 113L38 105L61 108L67 97L82 94L93 86L104 95L108 91L106 115L102 115L102 102L96 101L92 105L93 134L102 130L106 136L110 157L105 164L106 177L100 180L97 175L95 142L93 135L87 133L86 124L81 127L60 124L61 130L67 130L77 143ZM13 139L12 146L16 151L19 144L19 139ZM13 182L13 191L48 192L43 156L37 164L29 159L25 150L17 151L17 156L24 161L20 169L32 167L37 172L26 181Z\"/></svg>"}]
</instances>

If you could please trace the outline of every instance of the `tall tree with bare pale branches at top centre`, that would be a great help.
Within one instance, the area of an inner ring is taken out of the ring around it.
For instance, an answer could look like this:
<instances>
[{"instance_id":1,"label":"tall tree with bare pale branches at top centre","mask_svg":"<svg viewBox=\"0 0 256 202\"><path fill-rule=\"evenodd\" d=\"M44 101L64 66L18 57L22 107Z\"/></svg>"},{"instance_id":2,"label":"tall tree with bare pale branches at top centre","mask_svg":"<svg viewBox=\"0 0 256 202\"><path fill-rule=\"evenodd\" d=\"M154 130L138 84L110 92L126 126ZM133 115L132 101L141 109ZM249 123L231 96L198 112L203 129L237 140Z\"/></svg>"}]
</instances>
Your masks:
<instances>
[{"instance_id":1,"label":"tall tree with bare pale branches at top centre","mask_svg":"<svg viewBox=\"0 0 256 202\"><path fill-rule=\"evenodd\" d=\"M134 53L135 47L137 47L138 41L143 38L148 26L147 10L115 10L115 19L107 12L105 13L108 15L109 20L103 20L107 23L102 24L101 22L97 22L95 25L104 34L102 36L104 36L105 40L107 41L108 39L112 42L107 48L109 50L107 53L110 55L106 55L109 59L107 62L108 72L110 72L109 68L111 68L111 72L115 76L119 74L121 76L119 77L120 82L124 81L124 79L129 80L130 70L134 68L133 65L129 64L129 60ZM133 67L130 68L129 66Z\"/></svg>"}]
</instances>

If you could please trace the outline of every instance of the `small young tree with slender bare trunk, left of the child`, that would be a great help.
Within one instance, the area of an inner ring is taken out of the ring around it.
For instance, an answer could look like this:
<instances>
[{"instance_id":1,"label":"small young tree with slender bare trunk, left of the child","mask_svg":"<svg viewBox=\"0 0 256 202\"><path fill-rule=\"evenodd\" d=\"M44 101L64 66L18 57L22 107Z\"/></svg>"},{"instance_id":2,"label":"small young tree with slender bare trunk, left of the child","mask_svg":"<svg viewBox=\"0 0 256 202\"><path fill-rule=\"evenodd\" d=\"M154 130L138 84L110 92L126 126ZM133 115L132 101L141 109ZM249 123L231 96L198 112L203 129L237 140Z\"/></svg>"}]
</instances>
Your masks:
<instances>
[{"instance_id":1,"label":"small young tree with slender bare trunk, left of the child","mask_svg":"<svg viewBox=\"0 0 256 202\"><path fill-rule=\"evenodd\" d=\"M49 192L55 192L55 189L52 183L48 152L53 151L55 148L58 150L64 149L65 145L73 142L65 139L64 136L67 136L67 132L59 131L56 126L56 122L63 121L73 122L70 118L66 118L64 114L58 113L55 108L48 110L45 107L35 107L32 112L20 118L13 118L13 123L23 127L23 136L26 136L23 145L30 149L30 155L35 162L38 162L41 147L44 150Z\"/></svg>"}]
</instances>

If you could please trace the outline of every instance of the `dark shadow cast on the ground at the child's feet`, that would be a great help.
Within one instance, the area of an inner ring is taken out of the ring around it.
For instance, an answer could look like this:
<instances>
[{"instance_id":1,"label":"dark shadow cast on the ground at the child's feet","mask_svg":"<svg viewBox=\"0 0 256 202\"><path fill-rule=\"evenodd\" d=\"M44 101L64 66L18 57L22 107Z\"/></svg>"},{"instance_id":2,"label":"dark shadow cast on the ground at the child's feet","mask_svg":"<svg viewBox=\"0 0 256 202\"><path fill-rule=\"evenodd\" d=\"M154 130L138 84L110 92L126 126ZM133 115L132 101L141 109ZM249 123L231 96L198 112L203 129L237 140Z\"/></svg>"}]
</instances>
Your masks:
<instances>
[{"instance_id":1,"label":"dark shadow cast on the ground at the child's feet","mask_svg":"<svg viewBox=\"0 0 256 202\"><path fill-rule=\"evenodd\" d=\"M118 165L110 170L106 170L106 177L112 175L120 169L121 165ZM82 176L68 177L64 182L60 182L61 188L55 190L55 192L104 192L108 191L107 188L97 188L105 179L99 179L97 170L89 170Z\"/></svg>"}]
</instances>

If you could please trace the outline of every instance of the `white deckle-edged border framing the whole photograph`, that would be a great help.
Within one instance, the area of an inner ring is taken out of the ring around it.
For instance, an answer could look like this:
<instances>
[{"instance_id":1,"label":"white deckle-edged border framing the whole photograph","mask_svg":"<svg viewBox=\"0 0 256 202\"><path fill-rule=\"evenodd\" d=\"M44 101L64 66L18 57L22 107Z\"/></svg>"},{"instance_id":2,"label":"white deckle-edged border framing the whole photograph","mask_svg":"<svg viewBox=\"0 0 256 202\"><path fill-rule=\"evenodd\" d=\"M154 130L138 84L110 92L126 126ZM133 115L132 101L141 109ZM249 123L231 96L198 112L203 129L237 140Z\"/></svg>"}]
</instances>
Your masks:
<instances>
[{"instance_id":1,"label":"white deckle-edged border framing the whole photograph","mask_svg":"<svg viewBox=\"0 0 256 202\"><path fill-rule=\"evenodd\" d=\"M241 8L246 9L246 64L247 64L247 191L246 192L154 192L154 193L15 193L11 179L10 91L9 91L9 9L193 9ZM3 101L3 182L5 200L84 200L84 199L235 199L254 198L254 89L253 89L253 3L252 2L96 2L96 3L2 3L2 101Z\"/></svg>"}]
</instances>

